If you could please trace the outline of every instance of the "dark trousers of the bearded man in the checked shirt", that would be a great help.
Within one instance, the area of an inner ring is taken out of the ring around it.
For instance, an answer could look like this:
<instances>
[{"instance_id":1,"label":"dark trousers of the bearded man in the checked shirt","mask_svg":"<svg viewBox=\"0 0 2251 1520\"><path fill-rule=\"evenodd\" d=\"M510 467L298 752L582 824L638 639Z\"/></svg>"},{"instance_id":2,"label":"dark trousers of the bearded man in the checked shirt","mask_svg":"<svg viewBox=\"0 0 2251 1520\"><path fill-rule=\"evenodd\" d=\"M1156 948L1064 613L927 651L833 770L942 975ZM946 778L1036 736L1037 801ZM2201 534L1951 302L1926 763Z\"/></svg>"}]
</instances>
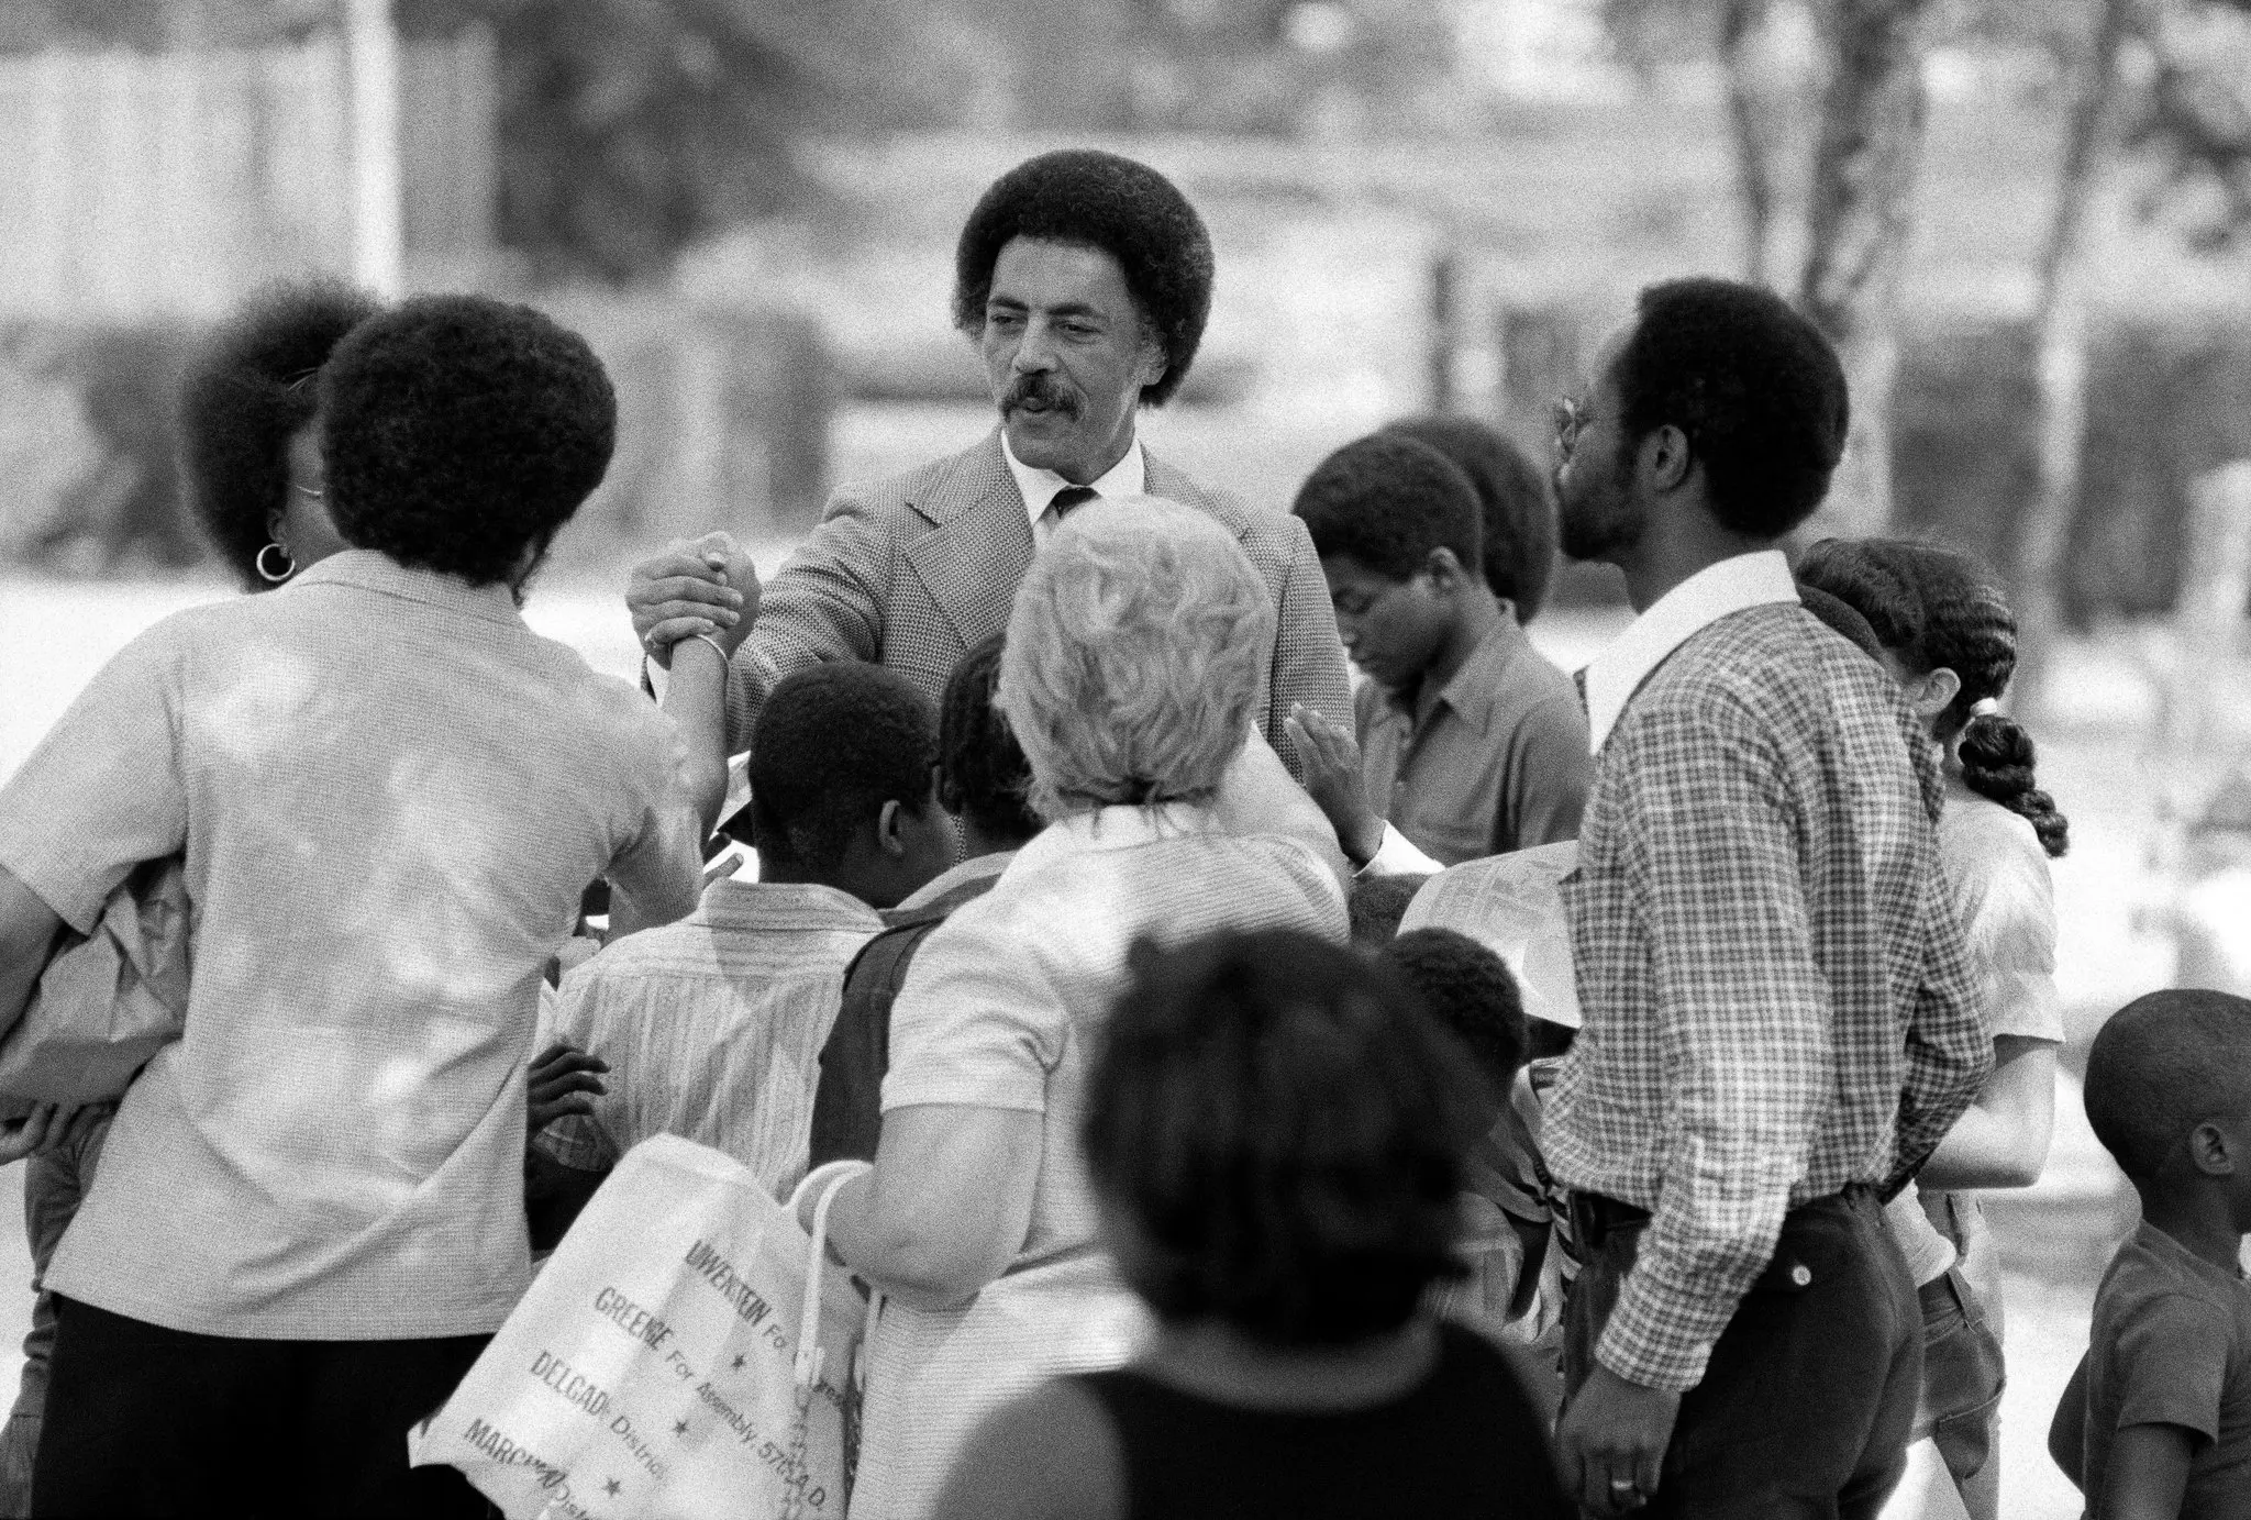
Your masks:
<instances>
[{"instance_id":1,"label":"dark trousers of the bearded man in the checked shirt","mask_svg":"<svg viewBox=\"0 0 2251 1520\"><path fill-rule=\"evenodd\" d=\"M1564 1398L1634 1266L1641 1227L1587 1241L1564 1308ZM1792 1209L1774 1259L1681 1396L1643 1520L1873 1518L1900 1482L1922 1387L1922 1313L1864 1189Z\"/></svg>"}]
</instances>

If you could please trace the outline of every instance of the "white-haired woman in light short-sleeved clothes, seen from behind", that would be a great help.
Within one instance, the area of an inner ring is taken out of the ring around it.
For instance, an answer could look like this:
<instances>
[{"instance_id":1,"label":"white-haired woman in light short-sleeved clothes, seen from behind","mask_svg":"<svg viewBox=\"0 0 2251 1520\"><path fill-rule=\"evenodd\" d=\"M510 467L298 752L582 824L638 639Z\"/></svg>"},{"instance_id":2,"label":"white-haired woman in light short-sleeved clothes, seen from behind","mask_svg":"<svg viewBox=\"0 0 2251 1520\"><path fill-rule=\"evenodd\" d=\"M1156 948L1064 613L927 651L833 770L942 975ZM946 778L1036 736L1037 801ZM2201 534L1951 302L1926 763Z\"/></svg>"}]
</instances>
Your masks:
<instances>
[{"instance_id":1,"label":"white-haired woman in light short-sleeved clothes, seen from behind","mask_svg":"<svg viewBox=\"0 0 2251 1520\"><path fill-rule=\"evenodd\" d=\"M984 1414L1132 1349L1141 1311L1094 1239L1078 1153L1126 950L1216 928L1344 939L1321 853L1216 808L1272 642L1236 538L1155 498L1076 509L1015 594L997 700L1049 829L916 957L873 1169L828 1216L887 1295L853 1515L927 1513ZM824 1182L806 1180L806 1211Z\"/></svg>"}]
</instances>

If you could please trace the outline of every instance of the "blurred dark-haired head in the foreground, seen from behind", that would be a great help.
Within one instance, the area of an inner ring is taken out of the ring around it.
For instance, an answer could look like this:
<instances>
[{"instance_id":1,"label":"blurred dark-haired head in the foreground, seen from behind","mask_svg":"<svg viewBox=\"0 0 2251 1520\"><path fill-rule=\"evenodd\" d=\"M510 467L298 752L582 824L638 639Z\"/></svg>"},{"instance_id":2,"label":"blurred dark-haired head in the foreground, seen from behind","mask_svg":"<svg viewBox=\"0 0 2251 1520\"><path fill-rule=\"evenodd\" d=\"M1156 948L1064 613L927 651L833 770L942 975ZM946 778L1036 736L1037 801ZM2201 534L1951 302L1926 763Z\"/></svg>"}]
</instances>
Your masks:
<instances>
[{"instance_id":1,"label":"blurred dark-haired head in the foreground, seen from behind","mask_svg":"<svg viewBox=\"0 0 2251 1520\"><path fill-rule=\"evenodd\" d=\"M1126 1281L1168 1322L1272 1347L1405 1326L1490 1128L1461 1045L1398 973L1312 935L1141 946L1089 1079L1085 1151Z\"/></svg>"}]
</instances>

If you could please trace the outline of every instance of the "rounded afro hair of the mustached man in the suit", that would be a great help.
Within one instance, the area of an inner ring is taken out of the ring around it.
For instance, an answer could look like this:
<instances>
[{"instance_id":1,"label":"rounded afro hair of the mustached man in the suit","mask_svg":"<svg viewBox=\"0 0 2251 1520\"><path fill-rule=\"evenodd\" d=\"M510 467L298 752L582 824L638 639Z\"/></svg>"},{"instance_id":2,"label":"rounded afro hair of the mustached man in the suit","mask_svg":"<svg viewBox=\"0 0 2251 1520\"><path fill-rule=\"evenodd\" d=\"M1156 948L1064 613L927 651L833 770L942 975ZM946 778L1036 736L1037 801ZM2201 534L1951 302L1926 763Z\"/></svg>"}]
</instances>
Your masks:
<instances>
[{"instance_id":1,"label":"rounded afro hair of the mustached man in the suit","mask_svg":"<svg viewBox=\"0 0 2251 1520\"><path fill-rule=\"evenodd\" d=\"M1164 405L1189 378L1211 315L1211 234L1180 189L1116 153L1062 149L993 180L954 248L954 327L984 336L993 263L1013 239L1096 248L1119 261L1126 290L1164 349L1164 374L1141 387Z\"/></svg>"}]
</instances>

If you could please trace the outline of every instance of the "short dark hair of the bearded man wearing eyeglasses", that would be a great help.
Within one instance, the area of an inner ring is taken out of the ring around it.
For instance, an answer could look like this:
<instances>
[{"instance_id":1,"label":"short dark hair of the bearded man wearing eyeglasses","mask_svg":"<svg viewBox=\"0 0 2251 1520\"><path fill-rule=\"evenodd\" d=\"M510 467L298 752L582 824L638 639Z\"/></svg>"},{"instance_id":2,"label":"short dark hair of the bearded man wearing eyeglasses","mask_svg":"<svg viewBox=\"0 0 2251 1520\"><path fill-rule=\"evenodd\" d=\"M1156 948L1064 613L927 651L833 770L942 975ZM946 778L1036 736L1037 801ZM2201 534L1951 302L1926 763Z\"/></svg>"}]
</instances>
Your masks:
<instances>
[{"instance_id":1,"label":"short dark hair of the bearded man wearing eyeglasses","mask_svg":"<svg viewBox=\"0 0 2251 1520\"><path fill-rule=\"evenodd\" d=\"M1627 437L1679 428L1724 527L1781 538L1828 495L1850 421L1844 365L1774 290L1650 286L1614 374Z\"/></svg>"}]
</instances>

